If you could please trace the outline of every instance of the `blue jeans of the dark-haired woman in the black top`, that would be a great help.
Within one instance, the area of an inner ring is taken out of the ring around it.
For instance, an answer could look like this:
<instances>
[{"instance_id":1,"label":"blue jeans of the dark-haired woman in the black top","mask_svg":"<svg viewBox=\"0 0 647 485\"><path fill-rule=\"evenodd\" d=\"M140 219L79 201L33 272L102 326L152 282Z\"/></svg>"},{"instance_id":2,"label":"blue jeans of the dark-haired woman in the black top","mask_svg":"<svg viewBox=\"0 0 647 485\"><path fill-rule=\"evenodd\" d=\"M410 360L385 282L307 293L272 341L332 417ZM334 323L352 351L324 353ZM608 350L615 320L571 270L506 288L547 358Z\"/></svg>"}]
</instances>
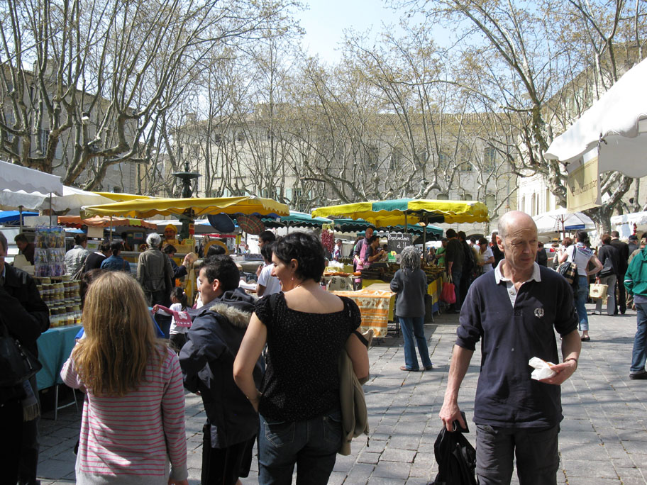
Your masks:
<instances>
[{"instance_id":1,"label":"blue jeans of the dark-haired woman in the black top","mask_svg":"<svg viewBox=\"0 0 647 485\"><path fill-rule=\"evenodd\" d=\"M303 421L260 416L258 484L290 485L297 465L298 485L325 485L341 447L341 411Z\"/></svg>"}]
</instances>

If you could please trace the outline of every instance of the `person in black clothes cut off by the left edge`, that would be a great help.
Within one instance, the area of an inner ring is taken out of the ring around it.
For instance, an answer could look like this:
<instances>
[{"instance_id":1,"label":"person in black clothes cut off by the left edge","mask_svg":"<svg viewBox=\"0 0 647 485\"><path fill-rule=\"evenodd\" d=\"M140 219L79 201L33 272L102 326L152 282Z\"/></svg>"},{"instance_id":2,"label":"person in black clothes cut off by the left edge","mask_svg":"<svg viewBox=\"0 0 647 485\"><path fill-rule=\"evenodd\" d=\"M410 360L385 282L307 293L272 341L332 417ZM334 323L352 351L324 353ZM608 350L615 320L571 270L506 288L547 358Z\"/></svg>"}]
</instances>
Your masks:
<instances>
[{"instance_id":1,"label":"person in black clothes cut off by the left edge","mask_svg":"<svg viewBox=\"0 0 647 485\"><path fill-rule=\"evenodd\" d=\"M9 335L38 357L36 340L50 327L48 306L26 272L5 264L6 250L6 238L0 233L2 324ZM6 483L15 484L19 479L21 484L38 484L38 417L23 419L23 408L37 399L35 377L18 388L0 388L0 467Z\"/></svg>"}]
</instances>

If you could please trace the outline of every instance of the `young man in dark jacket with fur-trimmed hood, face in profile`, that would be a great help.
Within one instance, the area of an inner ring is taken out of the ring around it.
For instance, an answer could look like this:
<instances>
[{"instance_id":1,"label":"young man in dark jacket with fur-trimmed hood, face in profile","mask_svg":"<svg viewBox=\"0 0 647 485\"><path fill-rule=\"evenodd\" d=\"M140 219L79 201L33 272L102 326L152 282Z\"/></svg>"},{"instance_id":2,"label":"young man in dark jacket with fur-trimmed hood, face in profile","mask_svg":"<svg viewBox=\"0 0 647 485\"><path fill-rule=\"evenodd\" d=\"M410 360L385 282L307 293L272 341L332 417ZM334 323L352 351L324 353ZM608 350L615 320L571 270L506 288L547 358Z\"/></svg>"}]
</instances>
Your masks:
<instances>
[{"instance_id":1,"label":"young man in dark jacket with fur-trimmed hood, face in profile","mask_svg":"<svg viewBox=\"0 0 647 485\"><path fill-rule=\"evenodd\" d=\"M194 311L187 343L179 353L184 387L199 392L207 422L201 483L233 485L248 476L258 433L258 413L233 381L233 361L254 311L253 297L238 289L240 273L228 256L215 256L200 269L204 306ZM262 378L261 359L254 369Z\"/></svg>"}]
</instances>

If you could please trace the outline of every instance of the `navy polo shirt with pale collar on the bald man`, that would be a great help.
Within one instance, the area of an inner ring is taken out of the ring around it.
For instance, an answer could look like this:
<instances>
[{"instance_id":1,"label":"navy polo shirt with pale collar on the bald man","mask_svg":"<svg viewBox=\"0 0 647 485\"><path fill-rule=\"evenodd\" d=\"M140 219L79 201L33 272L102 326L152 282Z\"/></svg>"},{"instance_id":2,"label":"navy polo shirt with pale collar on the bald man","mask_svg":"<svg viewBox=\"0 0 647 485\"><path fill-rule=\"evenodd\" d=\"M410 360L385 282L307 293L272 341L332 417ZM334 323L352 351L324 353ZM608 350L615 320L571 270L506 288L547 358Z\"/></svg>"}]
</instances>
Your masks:
<instances>
[{"instance_id":1,"label":"navy polo shirt with pale collar on the bald man","mask_svg":"<svg viewBox=\"0 0 647 485\"><path fill-rule=\"evenodd\" d=\"M558 272L542 266L540 277L521 285L514 308L505 282L497 284L494 271L470 286L456 345L475 350L481 341L474 406L479 425L543 428L563 419L560 386L531 379L528 361L560 362L555 330L564 336L577 329L577 313L573 290Z\"/></svg>"}]
</instances>

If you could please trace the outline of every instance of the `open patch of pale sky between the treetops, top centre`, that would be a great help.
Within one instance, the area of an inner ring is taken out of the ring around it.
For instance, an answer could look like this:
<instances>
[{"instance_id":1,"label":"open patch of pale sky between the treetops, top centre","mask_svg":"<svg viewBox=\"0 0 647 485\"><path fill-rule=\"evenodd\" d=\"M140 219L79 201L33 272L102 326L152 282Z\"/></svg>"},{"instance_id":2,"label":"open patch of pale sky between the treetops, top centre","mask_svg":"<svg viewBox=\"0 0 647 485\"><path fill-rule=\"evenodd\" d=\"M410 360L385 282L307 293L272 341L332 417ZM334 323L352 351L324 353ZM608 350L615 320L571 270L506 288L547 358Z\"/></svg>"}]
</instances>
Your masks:
<instances>
[{"instance_id":1,"label":"open patch of pale sky between the treetops, top centre","mask_svg":"<svg viewBox=\"0 0 647 485\"><path fill-rule=\"evenodd\" d=\"M382 23L398 25L399 13L387 9L381 0L305 0L310 9L297 14L306 30L303 45L310 55L328 63L338 62L343 31L370 29L372 35L382 30Z\"/></svg>"}]
</instances>

